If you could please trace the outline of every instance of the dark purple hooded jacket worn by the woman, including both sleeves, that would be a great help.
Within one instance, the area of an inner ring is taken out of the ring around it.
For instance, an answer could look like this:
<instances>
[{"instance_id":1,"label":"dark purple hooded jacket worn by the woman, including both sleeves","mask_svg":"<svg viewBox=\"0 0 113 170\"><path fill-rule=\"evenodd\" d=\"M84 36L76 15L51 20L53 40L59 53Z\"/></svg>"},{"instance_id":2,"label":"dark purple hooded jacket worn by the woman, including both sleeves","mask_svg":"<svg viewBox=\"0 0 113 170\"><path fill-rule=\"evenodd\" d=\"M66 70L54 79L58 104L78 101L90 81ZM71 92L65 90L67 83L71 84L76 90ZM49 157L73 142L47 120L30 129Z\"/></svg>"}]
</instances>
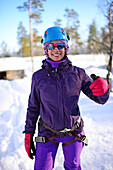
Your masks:
<instances>
[{"instance_id":1,"label":"dark purple hooded jacket worn by the woman, including both sleeves","mask_svg":"<svg viewBox=\"0 0 113 170\"><path fill-rule=\"evenodd\" d=\"M80 115L78 100L81 91L99 104L106 103L109 98L109 90L102 96L94 96L89 88L91 83L92 79L84 69L72 66L68 59L58 68L44 60L42 69L32 76L24 132L35 133L39 115L55 130L72 128L75 116ZM52 135L40 122L38 130L41 135Z\"/></svg>"}]
</instances>

